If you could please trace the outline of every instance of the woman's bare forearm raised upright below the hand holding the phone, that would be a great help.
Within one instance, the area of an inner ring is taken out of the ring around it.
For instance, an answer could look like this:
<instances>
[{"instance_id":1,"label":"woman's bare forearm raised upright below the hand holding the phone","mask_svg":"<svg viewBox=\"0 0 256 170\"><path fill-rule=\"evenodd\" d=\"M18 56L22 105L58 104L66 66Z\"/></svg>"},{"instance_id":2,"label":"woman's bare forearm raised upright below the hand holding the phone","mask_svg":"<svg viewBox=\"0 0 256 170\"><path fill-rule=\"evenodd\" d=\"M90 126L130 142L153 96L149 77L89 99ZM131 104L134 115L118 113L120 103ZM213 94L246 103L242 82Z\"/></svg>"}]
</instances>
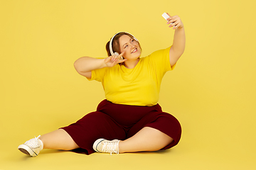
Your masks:
<instances>
[{"instance_id":1,"label":"woman's bare forearm raised upright below the hand holding the phone","mask_svg":"<svg viewBox=\"0 0 256 170\"><path fill-rule=\"evenodd\" d=\"M184 27L178 28L174 33L174 42L172 48L176 54L182 55L185 50L186 36Z\"/></svg>"}]
</instances>

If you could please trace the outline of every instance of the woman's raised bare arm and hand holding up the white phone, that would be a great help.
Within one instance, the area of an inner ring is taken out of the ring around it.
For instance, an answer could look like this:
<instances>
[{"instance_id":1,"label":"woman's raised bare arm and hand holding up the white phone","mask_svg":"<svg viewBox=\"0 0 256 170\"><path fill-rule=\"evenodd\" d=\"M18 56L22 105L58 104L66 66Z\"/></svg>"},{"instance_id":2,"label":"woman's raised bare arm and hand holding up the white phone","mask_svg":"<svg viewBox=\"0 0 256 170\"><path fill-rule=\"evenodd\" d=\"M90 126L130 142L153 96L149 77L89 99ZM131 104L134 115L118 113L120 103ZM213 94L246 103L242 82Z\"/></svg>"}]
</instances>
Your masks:
<instances>
[{"instance_id":1,"label":"woman's raised bare arm and hand holding up the white phone","mask_svg":"<svg viewBox=\"0 0 256 170\"><path fill-rule=\"evenodd\" d=\"M168 24L170 24L169 27L175 29L174 42L169 52L170 64L171 66L173 66L178 61L178 59L181 57L185 50L186 37L184 26L179 16L170 16L170 18L168 18L167 21Z\"/></svg>"}]
</instances>

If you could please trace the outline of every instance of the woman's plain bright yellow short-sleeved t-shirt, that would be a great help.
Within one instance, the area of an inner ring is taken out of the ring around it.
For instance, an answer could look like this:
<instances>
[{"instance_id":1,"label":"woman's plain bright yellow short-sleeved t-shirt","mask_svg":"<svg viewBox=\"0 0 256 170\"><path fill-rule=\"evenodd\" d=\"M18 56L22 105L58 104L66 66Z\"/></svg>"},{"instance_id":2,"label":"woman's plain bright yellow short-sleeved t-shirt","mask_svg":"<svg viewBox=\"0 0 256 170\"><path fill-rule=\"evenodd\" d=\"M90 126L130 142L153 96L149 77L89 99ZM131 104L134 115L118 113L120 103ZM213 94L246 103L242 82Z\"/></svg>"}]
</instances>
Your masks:
<instances>
[{"instance_id":1,"label":"woman's plain bright yellow short-sleeved t-shirt","mask_svg":"<svg viewBox=\"0 0 256 170\"><path fill-rule=\"evenodd\" d=\"M169 50L158 50L142 57L133 69L116 64L92 70L89 80L102 82L107 101L135 106L154 106L159 101L161 79L174 69L169 62Z\"/></svg>"}]
</instances>

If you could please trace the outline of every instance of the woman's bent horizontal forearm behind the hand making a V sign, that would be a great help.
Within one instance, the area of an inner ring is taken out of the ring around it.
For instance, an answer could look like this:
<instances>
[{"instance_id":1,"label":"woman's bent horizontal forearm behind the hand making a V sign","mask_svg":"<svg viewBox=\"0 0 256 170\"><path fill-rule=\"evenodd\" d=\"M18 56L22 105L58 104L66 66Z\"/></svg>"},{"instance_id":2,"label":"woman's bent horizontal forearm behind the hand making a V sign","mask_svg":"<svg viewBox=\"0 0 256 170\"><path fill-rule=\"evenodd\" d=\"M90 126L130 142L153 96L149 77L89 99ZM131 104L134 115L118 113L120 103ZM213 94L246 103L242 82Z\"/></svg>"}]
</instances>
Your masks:
<instances>
[{"instance_id":1,"label":"woman's bent horizontal forearm behind the hand making a V sign","mask_svg":"<svg viewBox=\"0 0 256 170\"><path fill-rule=\"evenodd\" d=\"M78 72L90 72L95 69L107 67L107 65L105 64L105 59L81 57L75 61L74 67Z\"/></svg>"}]
</instances>

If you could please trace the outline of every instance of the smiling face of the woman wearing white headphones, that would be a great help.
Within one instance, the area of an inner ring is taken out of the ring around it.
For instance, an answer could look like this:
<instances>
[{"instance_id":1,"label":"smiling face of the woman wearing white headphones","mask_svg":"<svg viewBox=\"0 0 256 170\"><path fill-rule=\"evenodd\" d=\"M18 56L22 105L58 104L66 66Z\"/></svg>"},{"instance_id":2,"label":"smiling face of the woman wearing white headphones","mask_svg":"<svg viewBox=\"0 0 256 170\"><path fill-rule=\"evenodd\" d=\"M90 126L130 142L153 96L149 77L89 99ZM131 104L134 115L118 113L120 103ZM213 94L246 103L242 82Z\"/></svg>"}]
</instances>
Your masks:
<instances>
[{"instance_id":1,"label":"smiling face of the woman wearing white headphones","mask_svg":"<svg viewBox=\"0 0 256 170\"><path fill-rule=\"evenodd\" d=\"M141 55L139 43L128 35L122 35L119 38L121 52L124 52L124 58L127 60L136 60Z\"/></svg>"}]
</instances>

